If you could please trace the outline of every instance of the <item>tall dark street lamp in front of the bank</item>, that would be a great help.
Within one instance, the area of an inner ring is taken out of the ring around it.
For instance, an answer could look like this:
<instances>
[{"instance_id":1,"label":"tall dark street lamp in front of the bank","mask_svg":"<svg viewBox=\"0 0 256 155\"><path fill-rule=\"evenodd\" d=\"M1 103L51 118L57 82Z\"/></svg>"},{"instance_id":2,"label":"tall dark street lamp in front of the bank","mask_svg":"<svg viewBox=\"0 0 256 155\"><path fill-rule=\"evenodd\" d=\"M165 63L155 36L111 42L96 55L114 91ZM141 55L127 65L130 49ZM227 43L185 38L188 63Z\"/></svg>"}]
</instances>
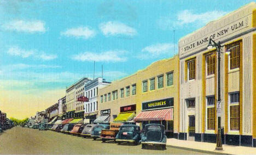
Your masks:
<instances>
[{"instance_id":1,"label":"tall dark street lamp in front of the bank","mask_svg":"<svg viewBox=\"0 0 256 155\"><path fill-rule=\"evenodd\" d=\"M213 44L212 44L213 42ZM218 100L217 100L217 103L218 103L218 106L217 106L217 111L219 109L219 104L220 102L222 101L221 98L220 98L220 48L223 47L220 45L220 41L218 42L218 44L213 41L211 38L210 38L210 41L209 41L209 44L207 46L208 49L212 49L212 47L215 46L216 49L217 49L217 53L218 53ZM226 54L229 54L228 51L226 52ZM215 150L223 150L223 147L222 147L222 137L221 137L221 134L220 134L220 116L218 116L218 134L217 134L217 144L216 144L216 148Z\"/></svg>"}]
</instances>

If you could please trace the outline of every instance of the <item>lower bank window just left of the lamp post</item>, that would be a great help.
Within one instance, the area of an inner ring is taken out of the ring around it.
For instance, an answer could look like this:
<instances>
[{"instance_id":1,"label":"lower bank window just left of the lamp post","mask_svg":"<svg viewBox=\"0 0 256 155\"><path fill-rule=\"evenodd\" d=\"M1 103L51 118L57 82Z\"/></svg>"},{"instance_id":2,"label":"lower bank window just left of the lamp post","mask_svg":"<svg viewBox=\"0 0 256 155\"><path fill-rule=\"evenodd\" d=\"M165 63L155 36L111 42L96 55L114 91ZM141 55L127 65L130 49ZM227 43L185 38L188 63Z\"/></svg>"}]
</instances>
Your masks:
<instances>
[{"instance_id":1,"label":"lower bank window just left of the lamp post","mask_svg":"<svg viewBox=\"0 0 256 155\"><path fill-rule=\"evenodd\" d=\"M215 97L207 97L207 129L215 129Z\"/></svg>"}]
</instances>

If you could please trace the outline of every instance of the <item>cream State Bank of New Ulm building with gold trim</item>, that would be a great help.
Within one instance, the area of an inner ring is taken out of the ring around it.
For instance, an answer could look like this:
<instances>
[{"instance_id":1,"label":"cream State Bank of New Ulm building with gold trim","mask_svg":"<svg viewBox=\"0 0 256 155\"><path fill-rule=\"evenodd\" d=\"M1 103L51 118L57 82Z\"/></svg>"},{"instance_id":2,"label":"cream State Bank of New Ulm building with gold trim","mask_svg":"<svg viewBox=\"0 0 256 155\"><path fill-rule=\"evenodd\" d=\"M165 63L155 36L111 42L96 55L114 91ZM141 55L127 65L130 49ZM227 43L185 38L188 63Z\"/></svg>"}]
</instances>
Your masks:
<instances>
[{"instance_id":1,"label":"cream State Bank of New Ulm building with gold trim","mask_svg":"<svg viewBox=\"0 0 256 155\"><path fill-rule=\"evenodd\" d=\"M223 144L255 147L255 9L254 2L245 5L179 40L179 139L216 142L219 126ZM216 49L207 49L210 38L223 46L220 104L218 57Z\"/></svg>"}]
</instances>

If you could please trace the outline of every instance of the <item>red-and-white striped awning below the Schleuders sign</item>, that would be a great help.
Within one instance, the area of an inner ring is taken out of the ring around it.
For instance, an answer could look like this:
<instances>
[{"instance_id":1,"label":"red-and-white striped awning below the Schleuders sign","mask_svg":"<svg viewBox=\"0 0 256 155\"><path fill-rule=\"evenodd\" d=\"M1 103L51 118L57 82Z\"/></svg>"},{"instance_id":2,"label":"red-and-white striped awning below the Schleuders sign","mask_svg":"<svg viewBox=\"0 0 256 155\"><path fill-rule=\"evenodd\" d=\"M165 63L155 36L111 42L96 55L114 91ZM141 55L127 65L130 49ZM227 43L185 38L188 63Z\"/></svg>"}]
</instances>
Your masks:
<instances>
[{"instance_id":1,"label":"red-and-white striped awning below the Schleuders sign","mask_svg":"<svg viewBox=\"0 0 256 155\"><path fill-rule=\"evenodd\" d=\"M134 119L136 122L141 121L172 121L173 120L173 108L142 111Z\"/></svg>"}]
</instances>

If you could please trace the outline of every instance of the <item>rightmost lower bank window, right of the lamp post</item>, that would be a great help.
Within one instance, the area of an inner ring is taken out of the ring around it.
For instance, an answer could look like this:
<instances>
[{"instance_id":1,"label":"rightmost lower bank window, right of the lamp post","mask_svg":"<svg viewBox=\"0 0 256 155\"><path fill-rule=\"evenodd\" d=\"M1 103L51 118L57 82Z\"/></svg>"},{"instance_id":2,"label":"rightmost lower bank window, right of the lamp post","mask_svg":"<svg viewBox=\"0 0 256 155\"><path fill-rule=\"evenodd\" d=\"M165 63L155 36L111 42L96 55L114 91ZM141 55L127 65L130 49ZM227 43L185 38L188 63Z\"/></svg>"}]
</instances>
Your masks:
<instances>
[{"instance_id":1,"label":"rightmost lower bank window, right of the lamp post","mask_svg":"<svg viewBox=\"0 0 256 155\"><path fill-rule=\"evenodd\" d=\"M230 94L230 130L240 127L240 96L239 92Z\"/></svg>"}]
</instances>

